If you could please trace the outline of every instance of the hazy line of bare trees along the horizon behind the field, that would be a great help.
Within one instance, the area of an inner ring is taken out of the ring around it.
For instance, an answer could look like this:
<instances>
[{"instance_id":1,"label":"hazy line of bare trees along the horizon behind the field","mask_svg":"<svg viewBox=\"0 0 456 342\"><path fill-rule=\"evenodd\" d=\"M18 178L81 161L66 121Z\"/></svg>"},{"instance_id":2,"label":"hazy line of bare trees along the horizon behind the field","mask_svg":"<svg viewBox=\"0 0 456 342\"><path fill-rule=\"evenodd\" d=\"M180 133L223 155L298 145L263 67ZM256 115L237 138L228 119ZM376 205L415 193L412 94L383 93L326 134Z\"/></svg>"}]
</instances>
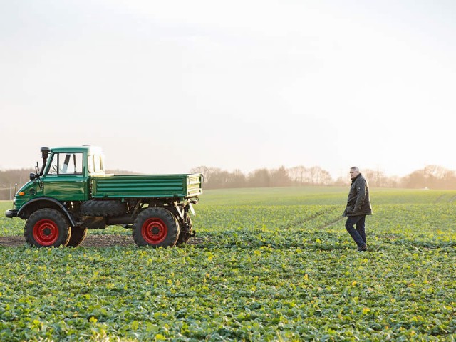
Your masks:
<instances>
[{"instance_id":1,"label":"hazy line of bare trees along the horizon behind the field","mask_svg":"<svg viewBox=\"0 0 456 342\"><path fill-rule=\"evenodd\" d=\"M29 179L33 169L0 170L0 199L10 199L17 189ZM135 172L125 170L107 170L115 175L131 175ZM361 170L371 187L398 187L410 189L456 190L456 170L447 170L438 165L427 165L404 177L388 177L380 170ZM279 167L278 169L261 168L249 173L241 170L229 172L218 167L199 166L190 173L204 175L204 189L224 189L237 187L294 187L294 186L346 186L350 178L338 177L319 166Z\"/></svg>"}]
</instances>

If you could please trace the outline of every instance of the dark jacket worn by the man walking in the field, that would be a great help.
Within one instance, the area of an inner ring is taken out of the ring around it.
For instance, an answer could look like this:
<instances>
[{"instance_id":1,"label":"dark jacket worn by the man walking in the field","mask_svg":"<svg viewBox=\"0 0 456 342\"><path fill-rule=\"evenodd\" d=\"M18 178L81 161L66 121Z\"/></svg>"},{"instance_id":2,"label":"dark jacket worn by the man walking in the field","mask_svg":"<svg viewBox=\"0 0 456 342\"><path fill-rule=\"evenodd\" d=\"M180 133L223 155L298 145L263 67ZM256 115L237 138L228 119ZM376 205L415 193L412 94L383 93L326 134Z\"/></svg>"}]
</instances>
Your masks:
<instances>
[{"instance_id":1,"label":"dark jacket worn by the man walking in the field","mask_svg":"<svg viewBox=\"0 0 456 342\"><path fill-rule=\"evenodd\" d=\"M347 207L343 216L371 215L372 207L369 199L368 181L361 175L351 181L348 192Z\"/></svg>"}]
</instances>

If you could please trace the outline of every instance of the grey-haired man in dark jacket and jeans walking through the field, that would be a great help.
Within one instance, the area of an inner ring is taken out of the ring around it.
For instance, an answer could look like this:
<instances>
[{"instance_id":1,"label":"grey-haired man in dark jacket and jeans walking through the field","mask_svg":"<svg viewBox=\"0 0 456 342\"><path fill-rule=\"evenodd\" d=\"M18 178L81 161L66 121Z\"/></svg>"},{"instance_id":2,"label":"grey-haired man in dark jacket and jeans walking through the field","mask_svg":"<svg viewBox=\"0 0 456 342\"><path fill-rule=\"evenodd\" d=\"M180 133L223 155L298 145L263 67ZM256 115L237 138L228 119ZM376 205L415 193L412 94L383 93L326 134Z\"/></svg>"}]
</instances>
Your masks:
<instances>
[{"instance_id":1,"label":"grey-haired man in dark jacket and jeans walking through the field","mask_svg":"<svg viewBox=\"0 0 456 342\"><path fill-rule=\"evenodd\" d=\"M361 175L358 167L350 168L351 187L348 192L347 207L343 216L347 217L345 227L358 245L358 251L367 251L365 221L366 215L372 214L371 200L369 199L369 185ZM356 229L354 226L356 225Z\"/></svg>"}]
</instances>

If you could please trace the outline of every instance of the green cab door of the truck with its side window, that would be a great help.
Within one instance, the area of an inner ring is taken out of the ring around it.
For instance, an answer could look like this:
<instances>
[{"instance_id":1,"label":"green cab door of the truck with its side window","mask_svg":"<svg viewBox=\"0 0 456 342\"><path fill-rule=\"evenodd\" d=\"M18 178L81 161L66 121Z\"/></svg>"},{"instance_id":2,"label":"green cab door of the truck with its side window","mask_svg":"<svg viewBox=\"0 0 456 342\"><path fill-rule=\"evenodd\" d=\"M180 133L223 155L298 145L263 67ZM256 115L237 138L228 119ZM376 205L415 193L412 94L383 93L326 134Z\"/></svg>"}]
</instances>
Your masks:
<instances>
[{"instance_id":1,"label":"green cab door of the truck with its side window","mask_svg":"<svg viewBox=\"0 0 456 342\"><path fill-rule=\"evenodd\" d=\"M87 180L83 174L83 153L54 153L43 180L43 195L61 202L87 199Z\"/></svg>"}]
</instances>

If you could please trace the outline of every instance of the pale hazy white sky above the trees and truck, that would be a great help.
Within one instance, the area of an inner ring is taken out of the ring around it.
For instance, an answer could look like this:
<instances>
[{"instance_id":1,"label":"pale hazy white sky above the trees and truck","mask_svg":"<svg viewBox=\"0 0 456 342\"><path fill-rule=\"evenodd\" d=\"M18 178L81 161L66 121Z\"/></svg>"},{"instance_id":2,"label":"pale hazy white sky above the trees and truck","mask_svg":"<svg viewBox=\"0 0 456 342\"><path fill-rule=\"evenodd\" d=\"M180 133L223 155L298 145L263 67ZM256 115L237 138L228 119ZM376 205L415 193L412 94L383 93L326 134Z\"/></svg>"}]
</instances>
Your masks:
<instances>
[{"instance_id":1,"label":"pale hazy white sky above the trees and truck","mask_svg":"<svg viewBox=\"0 0 456 342\"><path fill-rule=\"evenodd\" d=\"M456 1L0 1L0 169L456 170Z\"/></svg>"}]
</instances>

